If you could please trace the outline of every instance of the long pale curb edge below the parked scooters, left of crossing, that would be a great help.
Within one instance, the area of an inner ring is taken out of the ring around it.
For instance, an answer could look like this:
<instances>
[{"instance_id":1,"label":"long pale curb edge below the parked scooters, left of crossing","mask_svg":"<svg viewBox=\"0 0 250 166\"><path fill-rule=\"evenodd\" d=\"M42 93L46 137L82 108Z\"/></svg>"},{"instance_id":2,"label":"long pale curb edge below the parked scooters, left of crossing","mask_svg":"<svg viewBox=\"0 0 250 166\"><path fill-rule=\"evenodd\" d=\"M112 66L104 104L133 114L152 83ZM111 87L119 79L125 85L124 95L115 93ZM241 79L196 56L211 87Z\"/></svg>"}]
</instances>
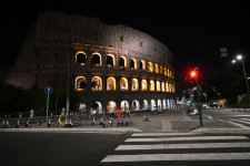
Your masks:
<instances>
[{"instance_id":1,"label":"long pale curb edge below the parked scooters, left of crossing","mask_svg":"<svg viewBox=\"0 0 250 166\"><path fill-rule=\"evenodd\" d=\"M100 132L100 133L142 133L137 128L0 128L1 132Z\"/></svg>"}]
</instances>

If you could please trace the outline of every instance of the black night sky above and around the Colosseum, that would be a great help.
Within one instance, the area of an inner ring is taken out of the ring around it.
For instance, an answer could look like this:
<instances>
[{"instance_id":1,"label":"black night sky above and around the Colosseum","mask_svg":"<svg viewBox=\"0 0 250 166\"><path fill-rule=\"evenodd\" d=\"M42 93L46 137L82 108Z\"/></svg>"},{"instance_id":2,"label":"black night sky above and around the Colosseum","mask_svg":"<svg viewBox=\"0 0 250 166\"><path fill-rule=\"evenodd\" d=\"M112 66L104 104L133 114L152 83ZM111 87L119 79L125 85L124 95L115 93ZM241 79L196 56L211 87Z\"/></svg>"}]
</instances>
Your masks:
<instances>
[{"instance_id":1,"label":"black night sky above and around the Colosseum","mask_svg":"<svg viewBox=\"0 0 250 166\"><path fill-rule=\"evenodd\" d=\"M41 1L7 2L1 11L0 68L14 63L22 42L39 11L61 11L99 18L143 31L164 43L173 54L178 92L186 87L186 73L206 55L227 46L229 58L219 53L203 61L202 77L209 79L237 53L249 62L250 6L244 1ZM248 65L248 64L246 64Z\"/></svg>"}]
</instances>

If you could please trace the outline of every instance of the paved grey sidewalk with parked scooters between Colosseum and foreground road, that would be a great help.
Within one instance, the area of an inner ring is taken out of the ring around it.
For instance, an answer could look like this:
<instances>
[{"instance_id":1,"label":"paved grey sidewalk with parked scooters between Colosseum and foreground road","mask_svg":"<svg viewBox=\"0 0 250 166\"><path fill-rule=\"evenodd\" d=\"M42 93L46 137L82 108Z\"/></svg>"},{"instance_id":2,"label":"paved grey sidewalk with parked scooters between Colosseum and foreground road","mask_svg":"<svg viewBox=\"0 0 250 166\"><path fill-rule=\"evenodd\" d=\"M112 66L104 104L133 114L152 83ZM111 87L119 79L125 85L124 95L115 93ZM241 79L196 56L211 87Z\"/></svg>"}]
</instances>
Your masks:
<instances>
[{"instance_id":1,"label":"paved grey sidewalk with parked scooters between Colosseum and foreground road","mask_svg":"<svg viewBox=\"0 0 250 166\"><path fill-rule=\"evenodd\" d=\"M31 125L29 127L19 128L0 128L0 132L106 132L106 133L124 133L124 132L180 132L180 133L249 133L250 129L241 128L223 121L212 120L207 115L202 115L203 125L200 126L199 116L188 116L186 110L171 110L162 114L147 114L149 122L143 121L143 115L136 115L129 117L132 121L131 126L117 126L117 118L113 118L113 126L108 125L106 120L106 127L100 126L100 118L97 120L94 126L90 120L82 120L81 125L77 127L50 126L46 127L43 123L41 126ZM124 118L121 118L124 122Z\"/></svg>"}]
</instances>

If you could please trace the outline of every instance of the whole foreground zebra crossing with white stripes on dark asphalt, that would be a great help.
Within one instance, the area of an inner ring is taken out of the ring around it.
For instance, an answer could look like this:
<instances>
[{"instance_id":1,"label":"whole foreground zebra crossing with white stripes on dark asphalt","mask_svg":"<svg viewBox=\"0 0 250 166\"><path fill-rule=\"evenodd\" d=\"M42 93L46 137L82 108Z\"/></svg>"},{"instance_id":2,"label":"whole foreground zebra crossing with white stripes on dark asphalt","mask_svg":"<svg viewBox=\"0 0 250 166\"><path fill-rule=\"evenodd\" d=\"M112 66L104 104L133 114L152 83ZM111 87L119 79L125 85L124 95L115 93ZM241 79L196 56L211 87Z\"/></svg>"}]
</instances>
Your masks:
<instances>
[{"instance_id":1,"label":"whole foreground zebra crossing with white stripes on dark asphalt","mask_svg":"<svg viewBox=\"0 0 250 166\"><path fill-rule=\"evenodd\" d=\"M250 139L244 135L134 133L101 163L246 159Z\"/></svg>"}]
</instances>

